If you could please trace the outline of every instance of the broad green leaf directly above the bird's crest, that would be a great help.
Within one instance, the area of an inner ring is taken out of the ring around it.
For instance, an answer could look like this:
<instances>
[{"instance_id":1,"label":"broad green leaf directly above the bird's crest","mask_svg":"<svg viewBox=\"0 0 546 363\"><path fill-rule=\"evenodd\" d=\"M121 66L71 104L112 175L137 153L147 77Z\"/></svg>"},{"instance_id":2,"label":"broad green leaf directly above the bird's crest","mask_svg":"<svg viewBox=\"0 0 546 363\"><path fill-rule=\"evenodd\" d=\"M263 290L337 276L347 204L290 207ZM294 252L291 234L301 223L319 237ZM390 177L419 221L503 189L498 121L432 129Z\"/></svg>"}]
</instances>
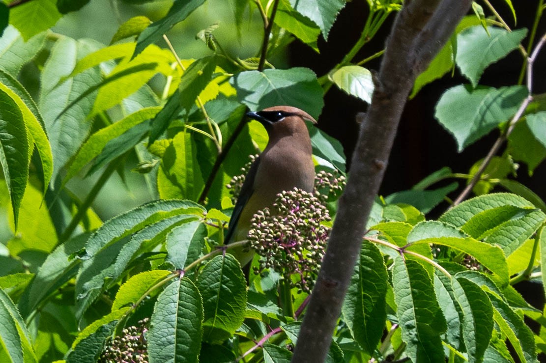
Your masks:
<instances>
[{"instance_id":1,"label":"broad green leaf directly above the bird's crest","mask_svg":"<svg viewBox=\"0 0 546 363\"><path fill-rule=\"evenodd\" d=\"M324 105L322 87L308 68L249 70L239 73L230 82L237 90L239 101L252 111L287 105L318 118Z\"/></svg>"}]
</instances>

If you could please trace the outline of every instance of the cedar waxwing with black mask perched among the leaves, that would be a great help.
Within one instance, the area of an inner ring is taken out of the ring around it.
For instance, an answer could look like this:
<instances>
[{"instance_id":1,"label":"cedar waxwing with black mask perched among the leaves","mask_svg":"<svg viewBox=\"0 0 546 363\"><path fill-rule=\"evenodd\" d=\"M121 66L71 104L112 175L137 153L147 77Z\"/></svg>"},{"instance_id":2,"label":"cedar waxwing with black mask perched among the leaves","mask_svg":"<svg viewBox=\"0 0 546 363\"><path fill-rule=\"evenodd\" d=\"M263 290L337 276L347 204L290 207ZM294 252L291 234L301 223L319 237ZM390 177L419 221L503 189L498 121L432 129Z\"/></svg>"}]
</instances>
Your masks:
<instances>
[{"instance_id":1,"label":"cedar waxwing with black mask perched among the leaves","mask_svg":"<svg viewBox=\"0 0 546 363\"><path fill-rule=\"evenodd\" d=\"M242 185L229 221L227 243L246 240L252 216L259 210L273 208L278 193L298 187L312 192L314 164L311 139L304 120L317 123L307 112L291 106L275 106L248 117L262 123L269 142L254 160ZM252 260L253 252L235 248L241 266Z\"/></svg>"}]
</instances>

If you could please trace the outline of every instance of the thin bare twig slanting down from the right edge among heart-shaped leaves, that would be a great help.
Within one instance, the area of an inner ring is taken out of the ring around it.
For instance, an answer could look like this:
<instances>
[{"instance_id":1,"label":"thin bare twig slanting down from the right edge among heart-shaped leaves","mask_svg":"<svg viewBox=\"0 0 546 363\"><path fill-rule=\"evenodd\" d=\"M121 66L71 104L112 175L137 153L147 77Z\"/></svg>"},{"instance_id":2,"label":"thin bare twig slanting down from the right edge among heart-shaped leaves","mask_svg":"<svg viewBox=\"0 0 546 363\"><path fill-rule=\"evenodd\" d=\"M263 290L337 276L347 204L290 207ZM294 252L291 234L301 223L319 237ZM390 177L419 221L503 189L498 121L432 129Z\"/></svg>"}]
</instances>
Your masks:
<instances>
[{"instance_id":1,"label":"thin bare twig slanting down from the right edge among heart-shaped leaves","mask_svg":"<svg viewBox=\"0 0 546 363\"><path fill-rule=\"evenodd\" d=\"M538 44L535 47L535 50L531 53L531 56L527 59L527 90L529 90L529 95L525 97L523 102L521 102L521 105L519 106L518 111L515 113L514 117L512 117L512 120L508 124L508 127L506 129L506 132L501 133L501 135L498 136L497 140L495 141L495 144L491 147L491 150L489 150L489 153L485 156L483 159L482 164L479 166L478 171L476 171L476 174L472 177L472 180L468 183L466 188L459 194L459 197L457 197L452 204L452 207L458 205L461 203L461 201L465 200L468 194L472 191L472 188L476 186L476 183L482 178L482 174L497 153L498 149L504 144L506 140L508 140L508 136L512 134L512 131L514 130L514 127L516 123L519 121L521 116L523 116L523 113L525 112L525 109L531 101L533 100L533 64L535 63L535 59L539 53L539 51L542 49L544 43L546 43L546 34L544 34L541 38L541 40L538 42Z\"/></svg>"}]
</instances>

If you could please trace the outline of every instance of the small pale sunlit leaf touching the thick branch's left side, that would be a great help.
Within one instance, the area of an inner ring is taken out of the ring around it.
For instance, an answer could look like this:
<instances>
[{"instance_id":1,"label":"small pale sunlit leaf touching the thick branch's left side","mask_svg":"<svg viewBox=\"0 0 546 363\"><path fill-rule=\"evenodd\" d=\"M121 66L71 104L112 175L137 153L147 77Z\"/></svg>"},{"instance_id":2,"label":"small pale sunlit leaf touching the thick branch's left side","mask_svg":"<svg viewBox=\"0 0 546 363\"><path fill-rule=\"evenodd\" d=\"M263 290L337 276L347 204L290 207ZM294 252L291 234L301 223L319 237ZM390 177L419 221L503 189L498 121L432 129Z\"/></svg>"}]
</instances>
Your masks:
<instances>
[{"instance_id":1,"label":"small pale sunlit leaf touching the thick branch's left side","mask_svg":"<svg viewBox=\"0 0 546 363\"><path fill-rule=\"evenodd\" d=\"M372 73L364 67L345 66L330 75L330 79L341 90L358 97L366 103L372 102Z\"/></svg>"}]
</instances>

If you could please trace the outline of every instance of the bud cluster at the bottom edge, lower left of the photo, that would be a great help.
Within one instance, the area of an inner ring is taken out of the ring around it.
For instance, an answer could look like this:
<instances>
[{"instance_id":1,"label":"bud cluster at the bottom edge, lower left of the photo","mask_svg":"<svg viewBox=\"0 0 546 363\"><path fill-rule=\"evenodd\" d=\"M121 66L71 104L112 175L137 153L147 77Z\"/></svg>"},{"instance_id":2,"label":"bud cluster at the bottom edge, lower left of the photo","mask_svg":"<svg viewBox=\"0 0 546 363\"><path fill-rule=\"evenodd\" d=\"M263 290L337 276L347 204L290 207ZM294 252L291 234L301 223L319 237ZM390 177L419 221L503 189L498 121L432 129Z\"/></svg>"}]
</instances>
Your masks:
<instances>
[{"instance_id":1,"label":"bud cluster at the bottom edge, lower left of the photo","mask_svg":"<svg viewBox=\"0 0 546 363\"><path fill-rule=\"evenodd\" d=\"M128 326L121 336L106 342L106 347L100 355L100 363L147 363L148 344L144 334L149 319L140 320L138 326Z\"/></svg>"}]
</instances>

